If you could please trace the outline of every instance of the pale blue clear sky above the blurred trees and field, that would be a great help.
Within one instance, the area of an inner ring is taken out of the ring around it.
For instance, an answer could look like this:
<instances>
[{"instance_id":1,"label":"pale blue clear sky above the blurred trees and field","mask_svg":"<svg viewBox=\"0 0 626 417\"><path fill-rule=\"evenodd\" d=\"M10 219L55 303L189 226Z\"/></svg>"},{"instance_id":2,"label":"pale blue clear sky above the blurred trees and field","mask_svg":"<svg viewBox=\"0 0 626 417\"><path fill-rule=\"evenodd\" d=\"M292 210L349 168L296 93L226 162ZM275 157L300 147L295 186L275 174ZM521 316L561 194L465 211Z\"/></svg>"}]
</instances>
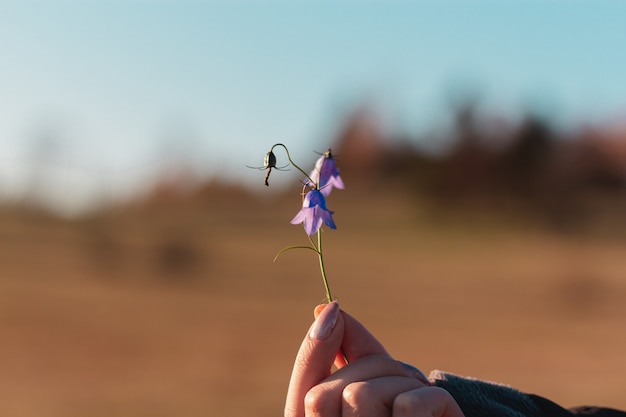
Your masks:
<instances>
[{"instance_id":1,"label":"pale blue clear sky above the blurred trees and field","mask_svg":"<svg viewBox=\"0 0 626 417\"><path fill-rule=\"evenodd\" d=\"M464 82L505 114L623 117L624 16L603 0L5 1L0 197L37 182L72 212L178 155L252 183L271 144L312 161L361 100L393 129L433 128Z\"/></svg>"}]
</instances>

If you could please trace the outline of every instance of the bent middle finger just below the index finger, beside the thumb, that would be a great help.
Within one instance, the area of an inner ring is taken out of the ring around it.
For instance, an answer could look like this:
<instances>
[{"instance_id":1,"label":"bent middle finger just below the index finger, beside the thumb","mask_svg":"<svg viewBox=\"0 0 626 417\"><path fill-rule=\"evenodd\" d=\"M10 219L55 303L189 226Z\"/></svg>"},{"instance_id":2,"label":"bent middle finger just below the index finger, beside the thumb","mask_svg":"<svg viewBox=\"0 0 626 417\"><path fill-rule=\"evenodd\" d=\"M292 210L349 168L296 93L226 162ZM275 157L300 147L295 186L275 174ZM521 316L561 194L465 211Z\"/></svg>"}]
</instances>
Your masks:
<instances>
[{"instance_id":1,"label":"bent middle finger just below the index finger, beside the thumb","mask_svg":"<svg viewBox=\"0 0 626 417\"><path fill-rule=\"evenodd\" d=\"M337 372L311 388L305 399L306 415L339 415L337 414L338 408L341 408L344 390L348 385L358 381L392 376L415 381L414 385L409 388L425 386L402 363L388 355L370 355L350 362L350 364L337 370Z\"/></svg>"}]
</instances>

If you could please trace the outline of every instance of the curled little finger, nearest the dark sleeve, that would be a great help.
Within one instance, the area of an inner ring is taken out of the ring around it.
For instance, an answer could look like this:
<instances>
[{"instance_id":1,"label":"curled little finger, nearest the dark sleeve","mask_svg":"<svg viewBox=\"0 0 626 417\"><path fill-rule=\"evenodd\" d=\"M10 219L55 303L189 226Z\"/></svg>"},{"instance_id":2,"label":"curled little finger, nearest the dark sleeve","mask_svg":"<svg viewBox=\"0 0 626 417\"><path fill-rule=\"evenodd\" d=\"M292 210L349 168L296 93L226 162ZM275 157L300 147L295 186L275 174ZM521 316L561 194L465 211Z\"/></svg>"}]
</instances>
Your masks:
<instances>
[{"instance_id":1,"label":"curled little finger, nearest the dark sleeve","mask_svg":"<svg viewBox=\"0 0 626 417\"><path fill-rule=\"evenodd\" d=\"M440 387L403 392L393 401L393 417L465 417L448 391Z\"/></svg>"}]
</instances>

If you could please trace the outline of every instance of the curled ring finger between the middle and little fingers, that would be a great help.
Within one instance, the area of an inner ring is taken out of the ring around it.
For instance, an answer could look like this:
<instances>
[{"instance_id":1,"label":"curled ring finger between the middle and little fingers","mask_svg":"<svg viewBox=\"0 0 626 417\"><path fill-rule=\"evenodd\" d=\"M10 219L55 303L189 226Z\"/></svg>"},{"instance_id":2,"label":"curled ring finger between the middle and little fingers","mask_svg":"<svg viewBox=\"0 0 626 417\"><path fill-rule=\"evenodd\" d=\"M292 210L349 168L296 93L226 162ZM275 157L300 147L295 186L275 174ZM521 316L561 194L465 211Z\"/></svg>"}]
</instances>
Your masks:
<instances>
[{"instance_id":1,"label":"curled ring finger between the middle and little fingers","mask_svg":"<svg viewBox=\"0 0 626 417\"><path fill-rule=\"evenodd\" d=\"M407 377L383 377L357 381L343 390L343 417L391 416L394 399L401 393L424 387Z\"/></svg>"}]
</instances>

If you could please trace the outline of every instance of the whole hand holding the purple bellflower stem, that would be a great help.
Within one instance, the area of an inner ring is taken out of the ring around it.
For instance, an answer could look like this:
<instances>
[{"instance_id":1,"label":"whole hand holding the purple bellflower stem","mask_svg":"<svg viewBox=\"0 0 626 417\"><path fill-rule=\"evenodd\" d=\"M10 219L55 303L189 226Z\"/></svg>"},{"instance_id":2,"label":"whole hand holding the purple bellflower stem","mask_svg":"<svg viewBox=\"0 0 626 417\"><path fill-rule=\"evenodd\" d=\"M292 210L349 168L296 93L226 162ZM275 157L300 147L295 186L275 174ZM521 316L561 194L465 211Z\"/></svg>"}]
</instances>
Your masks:
<instances>
[{"instance_id":1,"label":"whole hand holding the purple bellflower stem","mask_svg":"<svg viewBox=\"0 0 626 417\"><path fill-rule=\"evenodd\" d=\"M318 311L296 356L285 417L463 417L447 391L394 360L337 302Z\"/></svg>"}]
</instances>

